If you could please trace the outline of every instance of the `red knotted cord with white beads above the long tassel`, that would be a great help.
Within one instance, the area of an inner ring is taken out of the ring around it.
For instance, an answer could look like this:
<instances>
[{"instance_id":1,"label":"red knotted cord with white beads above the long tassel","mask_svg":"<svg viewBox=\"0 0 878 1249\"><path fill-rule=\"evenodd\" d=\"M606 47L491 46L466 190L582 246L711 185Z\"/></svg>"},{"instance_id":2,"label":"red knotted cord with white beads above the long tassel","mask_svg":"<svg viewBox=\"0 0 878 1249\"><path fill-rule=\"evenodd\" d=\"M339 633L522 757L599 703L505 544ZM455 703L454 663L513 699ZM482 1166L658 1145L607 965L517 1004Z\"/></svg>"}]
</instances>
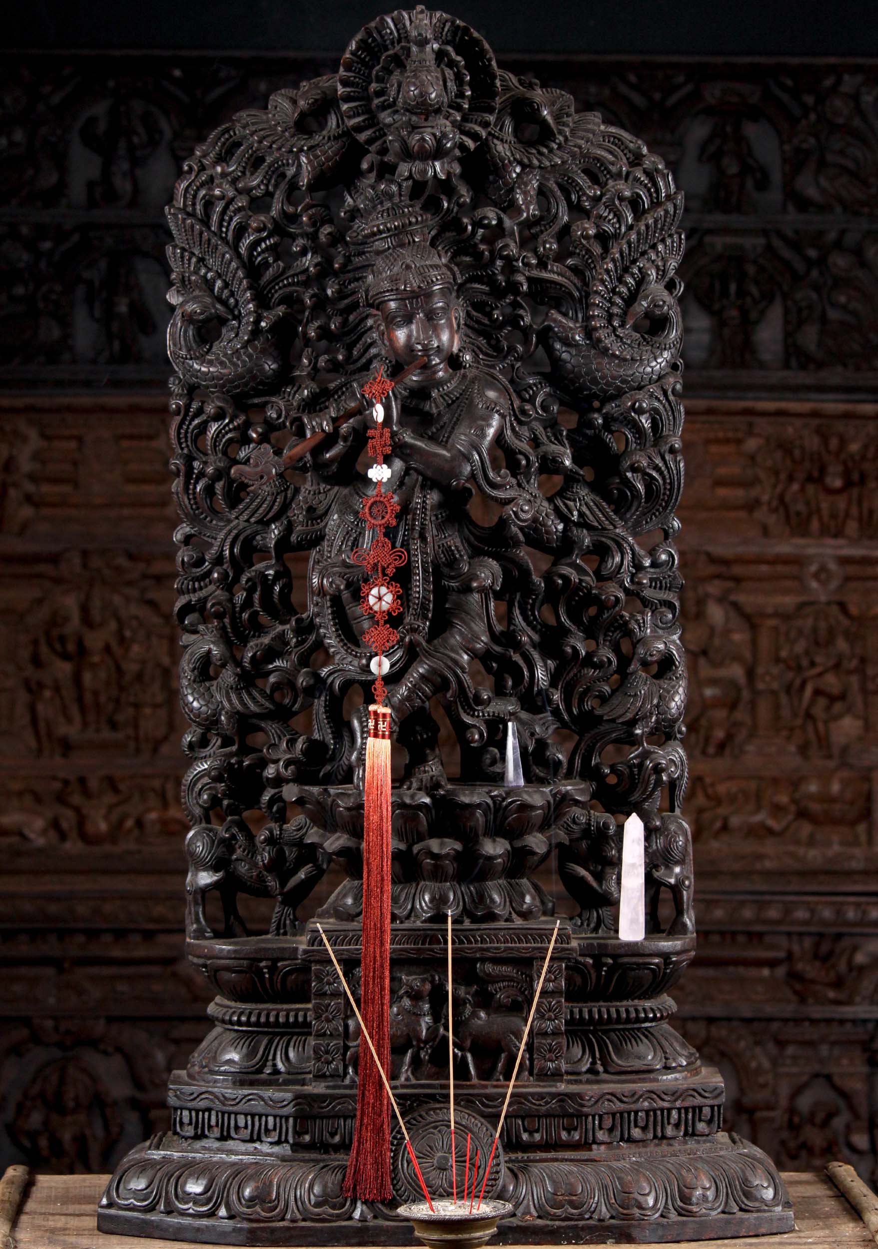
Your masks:
<instances>
[{"instance_id":1,"label":"red knotted cord with white beads above the long tassel","mask_svg":"<svg viewBox=\"0 0 878 1249\"><path fill-rule=\"evenodd\" d=\"M366 398L373 403L382 403L393 390L393 382L387 381L378 370L377 377L366 382L362 388ZM387 623L388 616L398 616L402 611L402 587L392 581L392 573L401 568L408 556L401 547L395 547L385 530L396 525L400 515L400 505L392 491L385 491L382 482L390 477L390 470L382 468L385 456L391 452L391 433L383 425L383 413L376 413L381 421L376 420L373 428L368 431L368 455L375 460L377 467L370 470L368 476L375 481L375 493L366 495L360 508L360 516L366 522L366 527L372 533L372 541L367 547L357 547L352 552L355 563L361 565L368 580L363 582L360 591L360 602L365 616L375 617L362 636L363 642L377 656L377 664L372 661L376 672L376 681L372 686L372 694L376 703L383 703L387 696L387 687L383 682L383 656L392 646L400 641L397 631ZM376 671L377 669L377 671ZM390 713L378 706L370 711L386 716L387 732L380 736L390 736ZM375 734L372 734L375 736Z\"/></svg>"}]
</instances>

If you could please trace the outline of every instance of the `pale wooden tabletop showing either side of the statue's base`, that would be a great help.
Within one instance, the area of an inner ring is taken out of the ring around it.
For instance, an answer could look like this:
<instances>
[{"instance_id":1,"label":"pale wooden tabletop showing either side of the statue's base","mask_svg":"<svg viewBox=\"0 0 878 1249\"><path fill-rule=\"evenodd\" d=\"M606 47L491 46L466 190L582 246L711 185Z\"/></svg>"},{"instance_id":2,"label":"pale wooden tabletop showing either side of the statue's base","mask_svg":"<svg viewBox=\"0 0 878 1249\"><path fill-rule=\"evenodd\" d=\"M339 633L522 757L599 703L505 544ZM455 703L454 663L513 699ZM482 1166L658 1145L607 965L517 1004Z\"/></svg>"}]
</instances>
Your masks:
<instances>
[{"instance_id":1,"label":"pale wooden tabletop showing either side of the statue's base","mask_svg":"<svg viewBox=\"0 0 878 1249\"><path fill-rule=\"evenodd\" d=\"M107 1179L36 1175L15 1224L17 1249L204 1249L189 1240L102 1235L95 1210ZM788 1172L784 1179L796 1212L794 1232L737 1240L686 1240L679 1243L681 1249L874 1249L874 1240L826 1175Z\"/></svg>"}]
</instances>

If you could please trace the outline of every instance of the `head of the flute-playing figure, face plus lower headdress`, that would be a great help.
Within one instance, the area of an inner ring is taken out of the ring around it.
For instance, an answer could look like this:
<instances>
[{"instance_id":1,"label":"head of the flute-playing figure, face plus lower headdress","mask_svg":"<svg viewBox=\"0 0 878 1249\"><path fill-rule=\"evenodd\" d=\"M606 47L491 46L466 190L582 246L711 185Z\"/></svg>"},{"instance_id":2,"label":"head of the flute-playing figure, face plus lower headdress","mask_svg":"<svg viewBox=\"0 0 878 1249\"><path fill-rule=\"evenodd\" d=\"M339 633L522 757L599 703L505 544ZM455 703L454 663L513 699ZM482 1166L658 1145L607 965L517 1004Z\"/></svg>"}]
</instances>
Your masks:
<instances>
[{"instance_id":1,"label":"head of the flute-playing figure, face plus lower headdress","mask_svg":"<svg viewBox=\"0 0 878 1249\"><path fill-rule=\"evenodd\" d=\"M383 252L370 271L365 297L375 309L382 346L402 366L427 357L412 375L416 386L442 381L451 371L463 323L456 287L455 270L425 242Z\"/></svg>"}]
</instances>

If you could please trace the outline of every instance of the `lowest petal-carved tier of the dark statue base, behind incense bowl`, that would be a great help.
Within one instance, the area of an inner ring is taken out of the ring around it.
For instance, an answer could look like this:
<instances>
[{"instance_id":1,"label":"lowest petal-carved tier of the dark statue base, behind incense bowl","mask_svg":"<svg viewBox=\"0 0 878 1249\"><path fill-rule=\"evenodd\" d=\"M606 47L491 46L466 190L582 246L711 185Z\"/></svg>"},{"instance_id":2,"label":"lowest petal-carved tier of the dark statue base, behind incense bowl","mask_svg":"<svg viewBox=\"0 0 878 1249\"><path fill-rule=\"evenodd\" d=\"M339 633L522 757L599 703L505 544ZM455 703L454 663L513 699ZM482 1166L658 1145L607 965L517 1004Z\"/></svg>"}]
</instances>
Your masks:
<instances>
[{"instance_id":1,"label":"lowest petal-carved tier of the dark statue base, behind incense bowl","mask_svg":"<svg viewBox=\"0 0 878 1249\"><path fill-rule=\"evenodd\" d=\"M417 1144L427 1183L438 1193L447 1159L436 1148L428 1113ZM413 1177L401 1140L392 1154L393 1192L405 1200ZM279 1150L272 1157L169 1133L121 1163L101 1199L97 1227L232 1245L410 1244L411 1227L391 1207L341 1195L345 1163L343 1154L284 1157ZM773 1163L726 1133L673 1145L498 1155L490 1180L488 1195L516 1210L501 1225L501 1244L709 1240L793 1227Z\"/></svg>"}]
</instances>

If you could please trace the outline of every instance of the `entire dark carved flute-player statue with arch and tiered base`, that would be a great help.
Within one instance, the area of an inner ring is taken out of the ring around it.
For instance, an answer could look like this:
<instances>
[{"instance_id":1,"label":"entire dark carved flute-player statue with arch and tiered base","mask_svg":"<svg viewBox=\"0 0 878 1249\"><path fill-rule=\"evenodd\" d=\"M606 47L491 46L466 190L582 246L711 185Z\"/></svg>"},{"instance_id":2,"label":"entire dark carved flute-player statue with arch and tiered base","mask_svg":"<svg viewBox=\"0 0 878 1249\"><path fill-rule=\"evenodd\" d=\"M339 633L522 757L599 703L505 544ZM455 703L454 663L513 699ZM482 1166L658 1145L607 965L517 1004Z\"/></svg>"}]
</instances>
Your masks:
<instances>
[{"instance_id":1,"label":"entire dark carved flute-player statue with arch and tiered base","mask_svg":"<svg viewBox=\"0 0 878 1249\"><path fill-rule=\"evenodd\" d=\"M792 1228L668 992L696 945L681 211L639 140L421 6L185 164L186 953L216 998L102 1230L403 1243L501 1108L501 1243Z\"/></svg>"}]
</instances>

